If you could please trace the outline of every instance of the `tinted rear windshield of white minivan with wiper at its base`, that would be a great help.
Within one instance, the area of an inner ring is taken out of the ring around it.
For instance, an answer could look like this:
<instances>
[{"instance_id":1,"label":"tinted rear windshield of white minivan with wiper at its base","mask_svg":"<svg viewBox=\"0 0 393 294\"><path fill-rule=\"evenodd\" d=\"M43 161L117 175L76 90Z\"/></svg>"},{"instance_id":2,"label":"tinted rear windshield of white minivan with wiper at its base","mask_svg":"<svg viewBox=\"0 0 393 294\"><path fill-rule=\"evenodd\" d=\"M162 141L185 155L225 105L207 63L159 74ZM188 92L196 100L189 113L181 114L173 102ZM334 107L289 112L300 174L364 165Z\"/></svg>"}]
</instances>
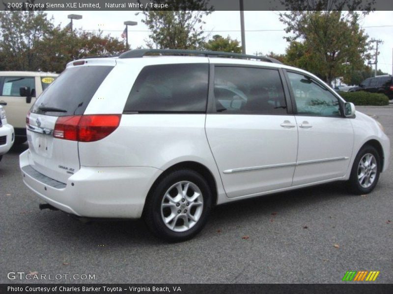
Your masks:
<instances>
[{"instance_id":1,"label":"tinted rear windshield of white minivan with wiper at its base","mask_svg":"<svg viewBox=\"0 0 393 294\"><path fill-rule=\"evenodd\" d=\"M84 114L112 66L76 66L66 69L31 108L32 113L66 116Z\"/></svg>"}]
</instances>

